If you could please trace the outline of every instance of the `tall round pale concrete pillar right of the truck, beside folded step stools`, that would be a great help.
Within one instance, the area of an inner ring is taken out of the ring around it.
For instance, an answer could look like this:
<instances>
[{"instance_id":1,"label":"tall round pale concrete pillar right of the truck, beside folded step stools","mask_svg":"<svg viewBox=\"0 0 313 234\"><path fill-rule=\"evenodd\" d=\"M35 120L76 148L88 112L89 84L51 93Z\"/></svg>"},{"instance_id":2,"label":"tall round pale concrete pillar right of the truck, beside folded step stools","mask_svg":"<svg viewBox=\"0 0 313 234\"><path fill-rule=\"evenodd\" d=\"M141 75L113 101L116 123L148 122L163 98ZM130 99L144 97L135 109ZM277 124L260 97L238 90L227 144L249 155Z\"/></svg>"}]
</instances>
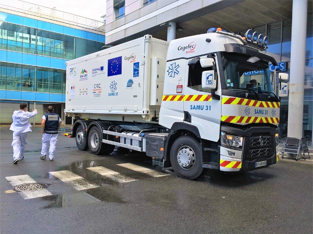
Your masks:
<instances>
[{"instance_id":1,"label":"tall round pale concrete pillar right of the truck, beside folded step stools","mask_svg":"<svg viewBox=\"0 0 313 234\"><path fill-rule=\"evenodd\" d=\"M307 0L292 1L288 137L302 138Z\"/></svg>"}]
</instances>

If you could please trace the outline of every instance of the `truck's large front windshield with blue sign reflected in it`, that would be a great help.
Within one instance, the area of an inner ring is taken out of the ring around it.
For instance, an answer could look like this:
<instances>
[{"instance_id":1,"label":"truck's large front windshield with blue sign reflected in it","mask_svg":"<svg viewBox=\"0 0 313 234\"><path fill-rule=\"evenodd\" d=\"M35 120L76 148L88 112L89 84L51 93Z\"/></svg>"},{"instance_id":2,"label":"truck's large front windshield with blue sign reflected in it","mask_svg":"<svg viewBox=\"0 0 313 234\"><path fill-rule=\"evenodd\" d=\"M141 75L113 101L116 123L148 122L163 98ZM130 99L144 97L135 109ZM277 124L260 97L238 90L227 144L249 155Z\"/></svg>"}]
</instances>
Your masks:
<instances>
[{"instance_id":1,"label":"truck's large front windshield with blue sign reflected in it","mask_svg":"<svg viewBox=\"0 0 313 234\"><path fill-rule=\"evenodd\" d=\"M239 53L222 53L227 89L273 93L268 61Z\"/></svg>"}]
</instances>

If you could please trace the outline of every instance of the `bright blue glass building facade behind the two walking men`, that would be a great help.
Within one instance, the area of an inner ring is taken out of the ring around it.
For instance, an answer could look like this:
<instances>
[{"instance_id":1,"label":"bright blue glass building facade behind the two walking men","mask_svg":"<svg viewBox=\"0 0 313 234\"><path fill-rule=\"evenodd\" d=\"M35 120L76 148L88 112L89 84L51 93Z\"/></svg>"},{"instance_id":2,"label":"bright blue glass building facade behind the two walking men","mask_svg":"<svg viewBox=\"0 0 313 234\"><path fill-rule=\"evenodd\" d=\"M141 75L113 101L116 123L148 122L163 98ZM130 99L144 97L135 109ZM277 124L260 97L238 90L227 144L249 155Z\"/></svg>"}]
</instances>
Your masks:
<instances>
[{"instance_id":1,"label":"bright blue glass building facade behind the two walking men","mask_svg":"<svg viewBox=\"0 0 313 234\"><path fill-rule=\"evenodd\" d=\"M0 12L0 101L65 102L65 62L105 45L89 31Z\"/></svg>"}]
</instances>

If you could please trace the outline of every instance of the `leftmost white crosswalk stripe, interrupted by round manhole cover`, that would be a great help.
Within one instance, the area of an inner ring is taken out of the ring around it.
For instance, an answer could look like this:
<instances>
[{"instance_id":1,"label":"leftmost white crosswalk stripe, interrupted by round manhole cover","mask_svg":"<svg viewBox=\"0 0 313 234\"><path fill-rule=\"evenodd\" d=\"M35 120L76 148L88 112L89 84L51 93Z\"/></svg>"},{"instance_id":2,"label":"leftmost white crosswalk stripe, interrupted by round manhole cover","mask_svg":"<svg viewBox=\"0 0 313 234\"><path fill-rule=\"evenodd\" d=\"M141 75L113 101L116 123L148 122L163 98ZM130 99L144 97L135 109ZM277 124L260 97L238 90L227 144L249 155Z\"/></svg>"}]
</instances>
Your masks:
<instances>
[{"instance_id":1,"label":"leftmost white crosswalk stripe, interrupted by round manhole cover","mask_svg":"<svg viewBox=\"0 0 313 234\"><path fill-rule=\"evenodd\" d=\"M8 180L8 182L10 182L10 184L12 184L13 187L20 185L20 184L24 184L24 183L36 183L36 181L33 180L29 175L8 176L6 177L6 179ZM18 191L18 193L20 193L24 199L31 199L31 198L36 198L36 197L45 197L45 196L52 195L52 193L50 193L45 188L35 190L35 191L27 191L27 192Z\"/></svg>"}]
</instances>

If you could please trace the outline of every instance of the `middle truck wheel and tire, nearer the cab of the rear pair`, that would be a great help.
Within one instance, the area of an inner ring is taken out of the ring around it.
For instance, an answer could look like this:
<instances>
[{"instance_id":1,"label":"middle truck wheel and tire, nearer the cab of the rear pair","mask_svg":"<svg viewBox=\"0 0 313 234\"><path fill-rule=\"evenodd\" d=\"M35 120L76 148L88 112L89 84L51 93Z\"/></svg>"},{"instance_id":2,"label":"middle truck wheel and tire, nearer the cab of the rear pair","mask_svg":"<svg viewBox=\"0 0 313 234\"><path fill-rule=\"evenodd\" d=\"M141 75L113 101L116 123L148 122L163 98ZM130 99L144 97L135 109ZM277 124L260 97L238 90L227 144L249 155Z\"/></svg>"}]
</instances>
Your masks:
<instances>
[{"instance_id":1,"label":"middle truck wheel and tire, nearer the cab of the rear pair","mask_svg":"<svg viewBox=\"0 0 313 234\"><path fill-rule=\"evenodd\" d=\"M91 154L105 155L113 152L115 145L102 143L101 132L97 126L93 126L88 134L88 146Z\"/></svg>"}]
</instances>

